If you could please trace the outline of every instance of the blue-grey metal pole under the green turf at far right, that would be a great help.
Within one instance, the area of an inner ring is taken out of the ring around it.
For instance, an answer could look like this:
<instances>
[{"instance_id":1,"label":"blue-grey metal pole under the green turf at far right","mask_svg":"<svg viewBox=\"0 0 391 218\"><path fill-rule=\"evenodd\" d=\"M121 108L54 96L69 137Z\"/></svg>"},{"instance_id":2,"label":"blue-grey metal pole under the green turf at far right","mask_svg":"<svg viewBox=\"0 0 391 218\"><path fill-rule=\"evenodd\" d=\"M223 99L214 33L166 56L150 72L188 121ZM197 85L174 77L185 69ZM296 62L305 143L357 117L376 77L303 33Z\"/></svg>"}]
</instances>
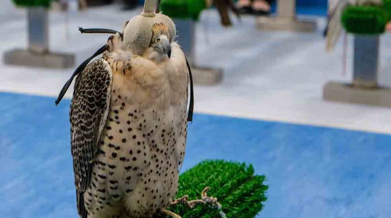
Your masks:
<instances>
[{"instance_id":1,"label":"blue-grey metal pole under the green turf at far right","mask_svg":"<svg viewBox=\"0 0 391 218\"><path fill-rule=\"evenodd\" d=\"M375 88L379 66L379 35L354 36L353 85Z\"/></svg>"}]
</instances>

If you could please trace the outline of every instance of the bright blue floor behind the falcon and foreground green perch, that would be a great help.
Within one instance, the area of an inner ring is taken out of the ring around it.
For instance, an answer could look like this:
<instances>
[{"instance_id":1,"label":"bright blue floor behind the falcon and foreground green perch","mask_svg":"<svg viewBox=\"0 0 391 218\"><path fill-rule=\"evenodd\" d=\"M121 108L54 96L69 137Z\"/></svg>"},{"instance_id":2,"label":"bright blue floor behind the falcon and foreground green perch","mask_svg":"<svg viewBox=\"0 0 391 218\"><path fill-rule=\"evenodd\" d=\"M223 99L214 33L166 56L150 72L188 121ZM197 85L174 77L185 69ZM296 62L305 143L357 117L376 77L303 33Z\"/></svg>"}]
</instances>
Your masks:
<instances>
[{"instance_id":1,"label":"bright blue floor behind the falcon and foreground green perch","mask_svg":"<svg viewBox=\"0 0 391 218\"><path fill-rule=\"evenodd\" d=\"M69 100L0 93L2 218L77 218ZM182 170L205 159L265 174L259 218L390 218L391 136L196 114Z\"/></svg>"}]
</instances>

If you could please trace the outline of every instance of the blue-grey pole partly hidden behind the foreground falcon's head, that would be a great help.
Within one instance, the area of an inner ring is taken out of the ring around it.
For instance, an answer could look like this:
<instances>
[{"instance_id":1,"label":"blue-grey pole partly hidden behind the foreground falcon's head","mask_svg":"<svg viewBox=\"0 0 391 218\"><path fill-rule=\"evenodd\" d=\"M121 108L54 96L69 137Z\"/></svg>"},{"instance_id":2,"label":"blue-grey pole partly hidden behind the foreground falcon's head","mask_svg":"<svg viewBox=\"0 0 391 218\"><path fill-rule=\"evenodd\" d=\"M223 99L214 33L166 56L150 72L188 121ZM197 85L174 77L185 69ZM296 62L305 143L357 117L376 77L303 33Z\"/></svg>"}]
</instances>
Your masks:
<instances>
[{"instance_id":1,"label":"blue-grey pole partly hidden behind the foreground falcon's head","mask_svg":"<svg viewBox=\"0 0 391 218\"><path fill-rule=\"evenodd\" d=\"M182 47L190 64L194 64L195 22L192 19L174 19L176 41Z\"/></svg>"}]
</instances>

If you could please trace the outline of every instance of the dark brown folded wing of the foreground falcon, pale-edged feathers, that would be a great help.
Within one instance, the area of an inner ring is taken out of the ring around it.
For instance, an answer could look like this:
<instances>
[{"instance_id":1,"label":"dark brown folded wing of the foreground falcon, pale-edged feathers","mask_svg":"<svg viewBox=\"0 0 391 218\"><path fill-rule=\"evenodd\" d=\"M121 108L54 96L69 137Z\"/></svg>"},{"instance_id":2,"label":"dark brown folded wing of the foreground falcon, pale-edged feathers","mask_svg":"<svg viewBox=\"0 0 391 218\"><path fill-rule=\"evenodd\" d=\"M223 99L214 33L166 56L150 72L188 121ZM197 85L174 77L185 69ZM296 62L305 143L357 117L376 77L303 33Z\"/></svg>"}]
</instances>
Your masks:
<instances>
[{"instance_id":1,"label":"dark brown folded wing of the foreground falcon, pale-edged feathers","mask_svg":"<svg viewBox=\"0 0 391 218\"><path fill-rule=\"evenodd\" d=\"M89 186L95 153L109 114L111 84L111 68L104 59L87 65L75 82L69 117L77 207L82 218L87 218L83 194Z\"/></svg>"}]
</instances>

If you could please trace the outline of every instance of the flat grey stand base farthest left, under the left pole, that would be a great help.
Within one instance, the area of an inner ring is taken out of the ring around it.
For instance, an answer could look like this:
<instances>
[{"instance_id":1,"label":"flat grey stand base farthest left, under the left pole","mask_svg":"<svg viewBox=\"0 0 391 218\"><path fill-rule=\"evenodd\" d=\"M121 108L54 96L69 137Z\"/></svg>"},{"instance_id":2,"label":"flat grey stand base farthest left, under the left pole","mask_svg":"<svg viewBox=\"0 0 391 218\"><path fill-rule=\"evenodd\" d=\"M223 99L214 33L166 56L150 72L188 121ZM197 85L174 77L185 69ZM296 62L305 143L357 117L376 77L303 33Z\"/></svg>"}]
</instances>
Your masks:
<instances>
[{"instance_id":1,"label":"flat grey stand base farthest left, under the left pole","mask_svg":"<svg viewBox=\"0 0 391 218\"><path fill-rule=\"evenodd\" d=\"M33 53L29 50L14 49L4 53L4 63L44 68L69 68L75 63L73 54Z\"/></svg>"}]
</instances>

